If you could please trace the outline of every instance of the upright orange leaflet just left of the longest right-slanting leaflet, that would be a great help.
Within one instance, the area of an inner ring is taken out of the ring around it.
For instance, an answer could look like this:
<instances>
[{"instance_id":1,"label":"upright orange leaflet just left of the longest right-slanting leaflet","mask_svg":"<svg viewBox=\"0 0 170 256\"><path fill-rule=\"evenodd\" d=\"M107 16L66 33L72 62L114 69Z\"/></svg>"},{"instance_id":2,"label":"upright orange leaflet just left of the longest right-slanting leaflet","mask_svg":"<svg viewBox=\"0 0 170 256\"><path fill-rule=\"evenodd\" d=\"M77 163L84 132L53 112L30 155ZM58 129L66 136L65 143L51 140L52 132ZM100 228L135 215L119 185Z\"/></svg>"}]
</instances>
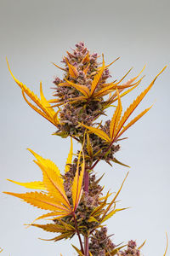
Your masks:
<instances>
[{"instance_id":1,"label":"upright orange leaflet just left of the longest right-slanting leaflet","mask_svg":"<svg viewBox=\"0 0 170 256\"><path fill-rule=\"evenodd\" d=\"M113 139L113 137L115 137L116 128L117 128L117 125L119 123L119 120L121 119L121 114L122 114L122 103L121 103L121 98L119 96L119 92L118 92L117 89L116 89L116 93L117 93L117 97L118 97L118 105L117 105L116 111L113 114L113 117L111 119L111 125L110 125L111 140Z\"/></svg>"}]
</instances>

